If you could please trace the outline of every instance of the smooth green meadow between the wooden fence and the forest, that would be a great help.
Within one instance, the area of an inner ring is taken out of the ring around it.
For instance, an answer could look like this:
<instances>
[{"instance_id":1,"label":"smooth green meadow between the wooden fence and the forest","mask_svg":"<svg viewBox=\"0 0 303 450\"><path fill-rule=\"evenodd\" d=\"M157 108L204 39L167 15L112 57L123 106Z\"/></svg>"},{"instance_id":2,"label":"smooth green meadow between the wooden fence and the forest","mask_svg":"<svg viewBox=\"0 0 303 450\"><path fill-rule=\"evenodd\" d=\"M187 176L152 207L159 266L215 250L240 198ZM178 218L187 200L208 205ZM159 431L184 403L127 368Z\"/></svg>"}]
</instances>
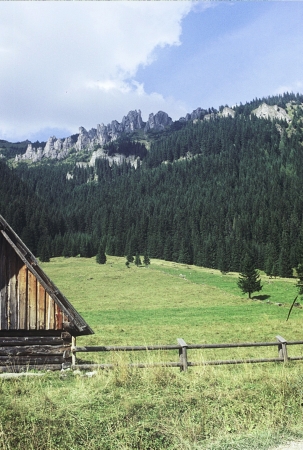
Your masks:
<instances>
[{"instance_id":1,"label":"smooth green meadow between the wooden fence and the forest","mask_svg":"<svg viewBox=\"0 0 303 450\"><path fill-rule=\"evenodd\" d=\"M248 300L237 287L237 274L153 260L148 267L125 266L124 258L54 258L42 267L95 336L80 343L170 344L286 339L301 336L302 311L294 309L295 280L262 277L259 295ZM180 274L185 278L181 277ZM275 303L283 303L279 307Z\"/></svg>"}]
</instances>

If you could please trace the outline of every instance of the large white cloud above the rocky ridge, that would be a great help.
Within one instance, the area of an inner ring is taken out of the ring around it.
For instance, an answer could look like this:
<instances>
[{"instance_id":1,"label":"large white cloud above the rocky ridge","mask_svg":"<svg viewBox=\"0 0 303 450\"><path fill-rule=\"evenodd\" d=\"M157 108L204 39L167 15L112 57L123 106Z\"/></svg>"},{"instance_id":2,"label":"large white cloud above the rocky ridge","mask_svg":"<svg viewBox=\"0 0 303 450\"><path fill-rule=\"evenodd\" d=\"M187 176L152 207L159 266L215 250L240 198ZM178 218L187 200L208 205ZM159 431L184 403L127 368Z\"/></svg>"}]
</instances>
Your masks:
<instances>
[{"instance_id":1,"label":"large white cloud above the rocky ridge","mask_svg":"<svg viewBox=\"0 0 303 450\"><path fill-rule=\"evenodd\" d=\"M159 47L180 45L191 2L0 2L0 139L77 132L184 105L135 80Z\"/></svg>"}]
</instances>

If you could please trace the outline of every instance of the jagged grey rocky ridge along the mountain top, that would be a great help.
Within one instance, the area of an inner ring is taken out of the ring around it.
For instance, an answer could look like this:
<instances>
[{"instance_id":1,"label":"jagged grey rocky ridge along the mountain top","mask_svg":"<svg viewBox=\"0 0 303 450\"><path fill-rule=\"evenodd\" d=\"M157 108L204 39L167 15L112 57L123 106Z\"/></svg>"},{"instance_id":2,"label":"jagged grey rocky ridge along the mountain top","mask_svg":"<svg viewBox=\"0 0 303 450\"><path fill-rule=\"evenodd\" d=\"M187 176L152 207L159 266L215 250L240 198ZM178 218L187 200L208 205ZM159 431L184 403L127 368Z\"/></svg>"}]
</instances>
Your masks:
<instances>
[{"instance_id":1,"label":"jagged grey rocky ridge along the mountain top","mask_svg":"<svg viewBox=\"0 0 303 450\"><path fill-rule=\"evenodd\" d=\"M279 97L276 99L279 102ZM271 98L263 98L255 100L257 107L250 111L250 114L256 115L258 118L270 118L272 120L282 120L285 124L291 124L291 117L287 112L288 106L291 104L268 104L272 103ZM251 102L253 103L253 102ZM247 106L247 105L245 105ZM284 107L283 107L284 106ZM14 149L12 157L15 163L19 162L41 162L43 160L60 161L68 158L71 153L80 154L80 152L91 153L92 161L96 157L107 158L106 152L102 151L103 147L109 143L115 142L123 136L132 136L134 133L141 133L139 141L148 141L150 133L161 133L164 130L171 129L172 131L184 126L190 121L197 120L211 120L218 117L235 117L237 113L241 112L242 104L239 106L219 107L219 111L215 108L203 109L198 107L191 113L187 113L185 117L180 117L179 120L173 121L169 115L164 111L158 111L156 114L150 113L148 120L142 120L141 111L131 110L127 115L123 116L122 121L112 120L108 125L103 123L97 124L96 128L86 130L83 126L79 127L79 133L73 134L66 138L56 138L51 136L47 142L24 141L18 144L10 144ZM245 112L244 112L245 113ZM282 131L281 131L282 132ZM138 139L138 136L136 136ZM1 141L6 142L6 141ZM6 159L5 155L1 153L0 142L0 159ZM9 143L8 143L9 144ZM21 151L18 152L18 148ZM87 161L87 159L85 158ZM124 158L116 158L116 162L121 163ZM111 158L111 162L115 162Z\"/></svg>"}]
</instances>

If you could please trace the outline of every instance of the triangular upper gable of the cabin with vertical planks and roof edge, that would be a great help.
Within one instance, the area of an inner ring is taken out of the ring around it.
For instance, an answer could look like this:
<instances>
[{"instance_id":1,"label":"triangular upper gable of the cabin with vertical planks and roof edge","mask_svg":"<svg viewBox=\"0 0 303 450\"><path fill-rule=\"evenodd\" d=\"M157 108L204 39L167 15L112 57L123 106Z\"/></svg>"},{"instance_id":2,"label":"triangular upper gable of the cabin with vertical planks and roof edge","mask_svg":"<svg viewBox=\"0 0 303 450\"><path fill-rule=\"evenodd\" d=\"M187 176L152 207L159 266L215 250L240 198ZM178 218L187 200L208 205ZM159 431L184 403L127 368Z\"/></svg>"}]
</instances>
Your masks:
<instances>
[{"instance_id":1,"label":"triangular upper gable of the cabin with vertical planks and roof edge","mask_svg":"<svg viewBox=\"0 0 303 450\"><path fill-rule=\"evenodd\" d=\"M0 331L6 330L94 333L0 216Z\"/></svg>"}]
</instances>

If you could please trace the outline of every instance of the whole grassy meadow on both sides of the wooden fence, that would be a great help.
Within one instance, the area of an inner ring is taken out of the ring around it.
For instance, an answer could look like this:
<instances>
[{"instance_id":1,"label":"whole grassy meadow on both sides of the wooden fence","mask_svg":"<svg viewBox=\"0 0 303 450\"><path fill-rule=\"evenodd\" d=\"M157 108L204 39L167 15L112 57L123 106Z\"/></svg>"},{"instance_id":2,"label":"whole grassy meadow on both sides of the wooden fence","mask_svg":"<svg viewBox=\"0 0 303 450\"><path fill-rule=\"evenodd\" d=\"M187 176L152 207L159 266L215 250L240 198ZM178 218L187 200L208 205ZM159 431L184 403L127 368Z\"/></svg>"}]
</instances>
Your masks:
<instances>
[{"instance_id":1,"label":"whole grassy meadow on both sides of the wooden fence","mask_svg":"<svg viewBox=\"0 0 303 450\"><path fill-rule=\"evenodd\" d=\"M41 264L95 334L77 345L175 344L302 339L295 280L269 279L248 300L238 274L152 260L54 258ZM275 303L282 303L278 306ZM303 350L292 346L290 355ZM177 361L178 352L78 354L115 362L89 374L0 379L0 449L269 449L303 437L303 363L129 369ZM275 357L276 347L189 350L189 361Z\"/></svg>"}]
</instances>

